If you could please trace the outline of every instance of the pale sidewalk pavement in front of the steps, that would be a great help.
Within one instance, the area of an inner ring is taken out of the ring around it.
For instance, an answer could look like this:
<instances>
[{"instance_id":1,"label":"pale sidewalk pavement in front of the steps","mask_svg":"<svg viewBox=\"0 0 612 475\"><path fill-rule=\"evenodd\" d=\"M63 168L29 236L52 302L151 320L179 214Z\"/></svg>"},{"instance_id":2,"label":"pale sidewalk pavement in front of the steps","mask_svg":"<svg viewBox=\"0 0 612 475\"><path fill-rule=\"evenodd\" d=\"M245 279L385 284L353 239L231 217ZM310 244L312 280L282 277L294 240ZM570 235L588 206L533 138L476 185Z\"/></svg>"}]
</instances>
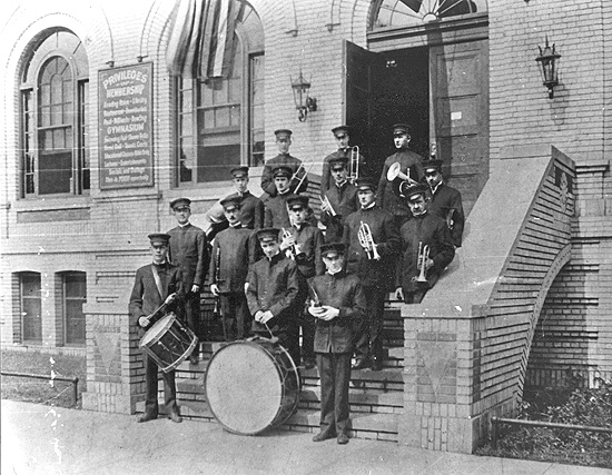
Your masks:
<instances>
[{"instance_id":1,"label":"pale sidewalk pavement in front of the steps","mask_svg":"<svg viewBox=\"0 0 612 475\"><path fill-rule=\"evenodd\" d=\"M395 443L270 431L239 436L218 424L2 400L2 475L482 474L603 475L610 469L430 452Z\"/></svg>"}]
</instances>

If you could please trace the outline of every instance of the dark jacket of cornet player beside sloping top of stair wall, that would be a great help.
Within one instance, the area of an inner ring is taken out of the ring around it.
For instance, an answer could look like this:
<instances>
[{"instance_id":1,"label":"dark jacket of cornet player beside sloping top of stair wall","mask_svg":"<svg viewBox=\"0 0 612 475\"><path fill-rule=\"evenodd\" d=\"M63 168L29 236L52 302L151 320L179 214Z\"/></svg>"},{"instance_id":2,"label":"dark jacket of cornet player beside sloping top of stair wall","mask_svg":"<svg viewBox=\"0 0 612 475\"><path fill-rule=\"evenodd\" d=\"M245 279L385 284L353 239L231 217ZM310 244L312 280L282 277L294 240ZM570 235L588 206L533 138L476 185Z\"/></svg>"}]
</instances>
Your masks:
<instances>
[{"instance_id":1,"label":"dark jacket of cornet player beside sloping top of stair wall","mask_svg":"<svg viewBox=\"0 0 612 475\"><path fill-rule=\"evenodd\" d=\"M435 285L444 268L455 257L455 247L446 221L431 212L415 216L399 229L402 235L402 275L401 285L404 291L416 291ZM434 265L427 270L427 284L415 279L421 270L418 265L418 243L430 246L430 259Z\"/></svg>"}]
</instances>

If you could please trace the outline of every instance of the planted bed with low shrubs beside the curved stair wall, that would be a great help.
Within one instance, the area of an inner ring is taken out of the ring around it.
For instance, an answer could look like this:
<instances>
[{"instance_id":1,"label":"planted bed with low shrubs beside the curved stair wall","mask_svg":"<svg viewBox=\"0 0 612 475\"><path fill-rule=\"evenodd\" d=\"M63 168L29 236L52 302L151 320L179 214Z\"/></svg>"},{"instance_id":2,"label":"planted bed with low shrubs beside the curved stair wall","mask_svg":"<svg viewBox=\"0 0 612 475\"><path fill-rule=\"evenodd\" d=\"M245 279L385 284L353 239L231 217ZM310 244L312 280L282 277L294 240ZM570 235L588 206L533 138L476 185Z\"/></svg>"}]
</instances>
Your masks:
<instances>
[{"instance_id":1,"label":"planted bed with low shrubs beside the curved stair wall","mask_svg":"<svg viewBox=\"0 0 612 475\"><path fill-rule=\"evenodd\" d=\"M612 383L589 389L572 377L557 388L525 394L517 419L612 428ZM478 455L612 468L612 434L562 428L502 425L497 448L486 444Z\"/></svg>"}]
</instances>

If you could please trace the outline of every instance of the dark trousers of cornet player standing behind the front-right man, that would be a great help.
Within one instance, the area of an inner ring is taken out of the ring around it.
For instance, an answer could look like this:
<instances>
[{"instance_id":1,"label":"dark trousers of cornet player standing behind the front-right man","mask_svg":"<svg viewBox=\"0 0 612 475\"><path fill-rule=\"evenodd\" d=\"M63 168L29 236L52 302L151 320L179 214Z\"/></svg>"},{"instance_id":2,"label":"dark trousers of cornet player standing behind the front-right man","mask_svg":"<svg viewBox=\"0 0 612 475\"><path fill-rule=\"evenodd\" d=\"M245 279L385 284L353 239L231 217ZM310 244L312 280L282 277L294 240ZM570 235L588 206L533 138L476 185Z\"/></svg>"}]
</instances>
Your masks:
<instances>
[{"instance_id":1,"label":"dark trousers of cornet player standing behind the front-right man","mask_svg":"<svg viewBox=\"0 0 612 475\"><path fill-rule=\"evenodd\" d=\"M381 286L364 286L366 314L355 331L357 359L383 359L383 323L386 291Z\"/></svg>"}]
</instances>

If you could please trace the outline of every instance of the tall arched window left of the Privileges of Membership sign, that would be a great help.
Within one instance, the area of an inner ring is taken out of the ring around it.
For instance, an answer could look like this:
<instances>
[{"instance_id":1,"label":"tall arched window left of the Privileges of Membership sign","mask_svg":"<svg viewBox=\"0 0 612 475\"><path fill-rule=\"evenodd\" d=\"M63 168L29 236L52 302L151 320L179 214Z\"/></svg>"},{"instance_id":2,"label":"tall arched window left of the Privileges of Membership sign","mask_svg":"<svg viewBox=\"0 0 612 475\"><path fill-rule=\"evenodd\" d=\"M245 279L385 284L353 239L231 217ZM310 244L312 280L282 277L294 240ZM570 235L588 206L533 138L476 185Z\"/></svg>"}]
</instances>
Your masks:
<instances>
[{"instance_id":1,"label":"tall arched window left of the Privileges of Membership sign","mask_svg":"<svg viewBox=\"0 0 612 475\"><path fill-rule=\"evenodd\" d=\"M87 53L58 30L29 51L21 90L21 197L89 190Z\"/></svg>"}]
</instances>

